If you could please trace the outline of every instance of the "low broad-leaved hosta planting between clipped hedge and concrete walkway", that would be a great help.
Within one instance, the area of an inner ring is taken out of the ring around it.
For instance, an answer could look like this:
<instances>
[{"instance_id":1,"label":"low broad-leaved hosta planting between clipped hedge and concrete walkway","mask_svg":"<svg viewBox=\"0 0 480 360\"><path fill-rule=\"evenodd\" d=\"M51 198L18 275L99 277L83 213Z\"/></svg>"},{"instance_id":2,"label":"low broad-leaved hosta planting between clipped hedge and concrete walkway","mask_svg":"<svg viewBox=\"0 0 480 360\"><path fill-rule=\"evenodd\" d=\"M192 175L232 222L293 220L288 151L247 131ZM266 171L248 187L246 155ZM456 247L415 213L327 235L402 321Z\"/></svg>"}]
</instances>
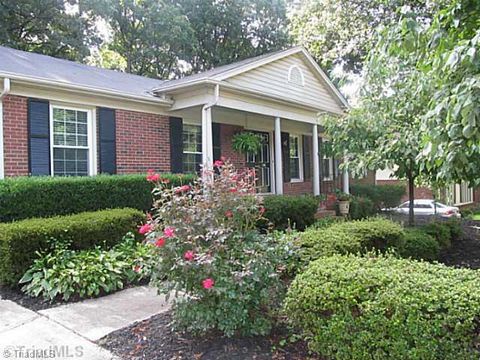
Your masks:
<instances>
[{"instance_id":1,"label":"low broad-leaved hosta planting between clipped hedge and concrete walkway","mask_svg":"<svg viewBox=\"0 0 480 360\"><path fill-rule=\"evenodd\" d=\"M47 300L99 296L148 278L153 255L153 246L137 242L132 233L110 250L60 246L36 259L20 283L26 294Z\"/></svg>"}]
</instances>

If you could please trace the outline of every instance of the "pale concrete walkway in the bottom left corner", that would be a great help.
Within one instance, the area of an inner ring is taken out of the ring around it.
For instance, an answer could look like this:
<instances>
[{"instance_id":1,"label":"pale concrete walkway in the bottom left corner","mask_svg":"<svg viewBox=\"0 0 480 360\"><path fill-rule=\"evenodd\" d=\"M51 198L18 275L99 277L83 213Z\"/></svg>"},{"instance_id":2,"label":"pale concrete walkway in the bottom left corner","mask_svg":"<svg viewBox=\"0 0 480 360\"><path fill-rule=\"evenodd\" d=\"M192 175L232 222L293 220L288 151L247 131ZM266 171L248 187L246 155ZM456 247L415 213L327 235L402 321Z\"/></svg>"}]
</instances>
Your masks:
<instances>
[{"instance_id":1,"label":"pale concrete walkway in the bottom left corner","mask_svg":"<svg viewBox=\"0 0 480 360\"><path fill-rule=\"evenodd\" d=\"M0 300L0 359L116 359L93 341L168 308L146 286L39 312Z\"/></svg>"}]
</instances>

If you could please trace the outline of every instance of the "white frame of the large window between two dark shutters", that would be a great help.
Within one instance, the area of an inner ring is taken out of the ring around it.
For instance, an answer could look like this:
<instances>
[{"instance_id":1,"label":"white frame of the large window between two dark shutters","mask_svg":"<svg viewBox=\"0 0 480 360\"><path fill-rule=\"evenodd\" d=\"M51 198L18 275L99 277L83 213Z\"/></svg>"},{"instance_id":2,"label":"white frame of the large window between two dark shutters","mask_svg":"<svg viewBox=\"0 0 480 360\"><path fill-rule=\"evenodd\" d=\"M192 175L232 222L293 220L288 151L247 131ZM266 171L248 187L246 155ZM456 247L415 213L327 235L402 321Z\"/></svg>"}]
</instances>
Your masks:
<instances>
[{"instance_id":1,"label":"white frame of the large window between two dark shutters","mask_svg":"<svg viewBox=\"0 0 480 360\"><path fill-rule=\"evenodd\" d=\"M53 144L53 109L83 111L87 113L87 146L86 147L68 146L68 145L56 146ZM88 176L96 175L97 174L97 132L96 132L96 126L94 124L94 119L96 119L95 108L64 105L61 103L50 103L49 110L50 110L49 132L50 132L50 174L51 176L55 176L54 175L55 164L53 161L53 149L55 148L88 150Z\"/></svg>"}]
</instances>

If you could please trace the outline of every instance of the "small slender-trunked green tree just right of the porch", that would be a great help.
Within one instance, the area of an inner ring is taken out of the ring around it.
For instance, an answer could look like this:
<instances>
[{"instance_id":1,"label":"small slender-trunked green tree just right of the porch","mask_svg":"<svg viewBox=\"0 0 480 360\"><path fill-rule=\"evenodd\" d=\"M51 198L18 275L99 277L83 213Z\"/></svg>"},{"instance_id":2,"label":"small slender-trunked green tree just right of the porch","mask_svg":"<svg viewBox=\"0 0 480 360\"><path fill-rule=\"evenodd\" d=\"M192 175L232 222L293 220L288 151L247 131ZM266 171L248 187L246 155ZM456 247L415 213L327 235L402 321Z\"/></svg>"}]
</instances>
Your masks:
<instances>
[{"instance_id":1,"label":"small slender-trunked green tree just right of the porch","mask_svg":"<svg viewBox=\"0 0 480 360\"><path fill-rule=\"evenodd\" d=\"M410 14L405 14L399 24L402 31L383 31L369 55L359 108L344 119L327 119L326 132L334 151L348 159L352 173L390 168L397 178L407 179L409 222L413 224L415 181L430 179L421 171L418 156L431 84L416 68L425 46L421 25ZM398 43L408 44L410 51L397 52Z\"/></svg>"}]
</instances>

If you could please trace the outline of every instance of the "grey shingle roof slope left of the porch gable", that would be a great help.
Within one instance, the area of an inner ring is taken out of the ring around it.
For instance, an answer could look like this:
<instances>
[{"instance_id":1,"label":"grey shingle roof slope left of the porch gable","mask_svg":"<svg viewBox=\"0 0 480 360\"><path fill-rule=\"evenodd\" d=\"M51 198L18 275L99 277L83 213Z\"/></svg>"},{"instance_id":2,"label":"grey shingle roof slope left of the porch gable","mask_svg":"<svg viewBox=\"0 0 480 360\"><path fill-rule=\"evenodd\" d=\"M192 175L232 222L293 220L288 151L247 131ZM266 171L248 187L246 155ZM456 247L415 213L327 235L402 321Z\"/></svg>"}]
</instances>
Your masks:
<instances>
[{"instance_id":1,"label":"grey shingle roof slope left of the porch gable","mask_svg":"<svg viewBox=\"0 0 480 360\"><path fill-rule=\"evenodd\" d=\"M150 91L163 80L107 70L57 59L51 56L0 46L0 74L58 81L68 85L118 91L135 96L154 98Z\"/></svg>"}]
</instances>

